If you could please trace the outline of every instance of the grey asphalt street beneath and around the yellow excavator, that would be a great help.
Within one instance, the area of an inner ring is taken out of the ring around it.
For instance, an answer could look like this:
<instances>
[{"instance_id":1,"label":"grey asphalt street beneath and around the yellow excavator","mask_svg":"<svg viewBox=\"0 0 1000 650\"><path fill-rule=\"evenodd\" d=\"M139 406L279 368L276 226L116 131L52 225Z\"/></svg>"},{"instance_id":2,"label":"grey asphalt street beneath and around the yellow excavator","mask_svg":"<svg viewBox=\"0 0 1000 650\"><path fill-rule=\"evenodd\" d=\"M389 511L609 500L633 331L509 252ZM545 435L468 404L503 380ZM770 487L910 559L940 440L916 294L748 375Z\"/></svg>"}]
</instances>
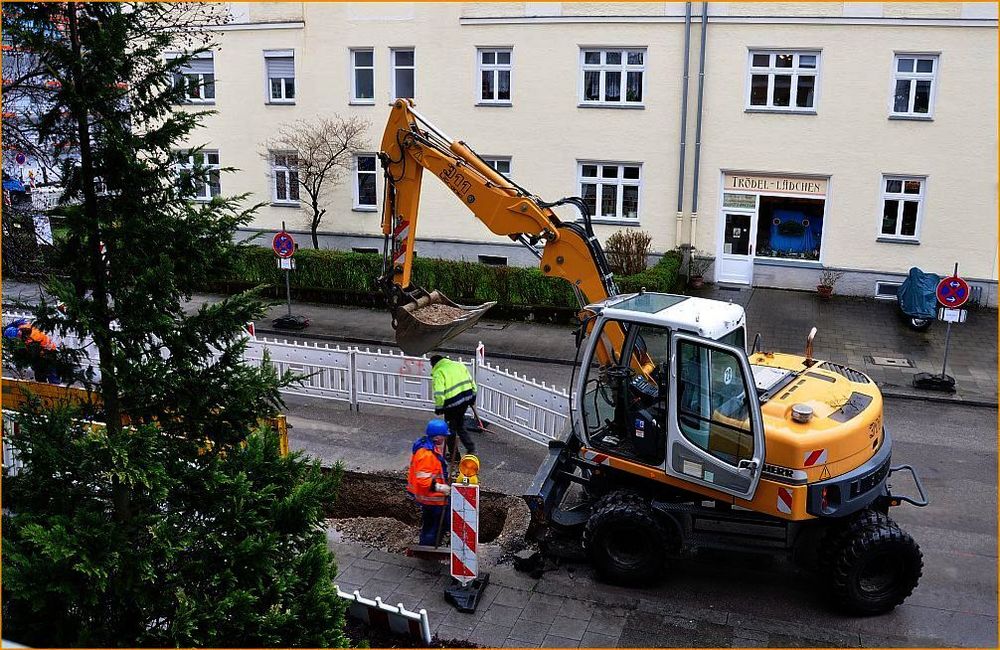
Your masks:
<instances>
[{"instance_id":1,"label":"grey asphalt street beneath and around the yellow excavator","mask_svg":"<svg viewBox=\"0 0 1000 650\"><path fill-rule=\"evenodd\" d=\"M288 413L294 449L327 463L340 460L350 469L398 475L405 470L410 441L429 415L381 408L357 412L309 398L289 399ZM909 600L890 614L832 613L810 574L783 561L740 554L696 556L675 565L667 580L651 589L608 588L589 567L576 565L548 572L523 590L638 603L620 612L622 621L627 619L615 637L620 646L996 647L996 412L888 400L886 422L895 441L894 463L917 468L931 498L926 508L893 509L893 518L923 550L924 575ZM527 487L545 453L499 429L479 435L477 445L483 484L509 494ZM907 485L899 481L894 487Z\"/></svg>"}]
</instances>

